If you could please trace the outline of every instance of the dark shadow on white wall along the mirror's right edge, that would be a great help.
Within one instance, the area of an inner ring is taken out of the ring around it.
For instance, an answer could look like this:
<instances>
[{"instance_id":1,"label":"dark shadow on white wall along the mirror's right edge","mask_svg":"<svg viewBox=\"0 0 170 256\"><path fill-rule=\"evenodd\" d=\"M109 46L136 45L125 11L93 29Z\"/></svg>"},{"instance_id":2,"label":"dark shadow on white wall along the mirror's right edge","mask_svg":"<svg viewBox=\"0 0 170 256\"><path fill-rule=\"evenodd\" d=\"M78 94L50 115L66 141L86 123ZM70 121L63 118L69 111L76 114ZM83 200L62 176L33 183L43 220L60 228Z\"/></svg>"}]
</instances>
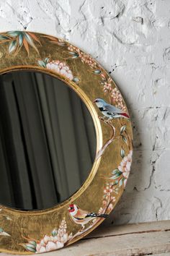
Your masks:
<instances>
[{"instance_id":1,"label":"dark shadow on white wall along the mirror's right edge","mask_svg":"<svg viewBox=\"0 0 170 256\"><path fill-rule=\"evenodd\" d=\"M143 151L141 150L141 139L140 133L138 132L138 125L140 123L139 116L133 109L130 108L130 104L126 101L131 120L133 125L133 163L130 170L130 176L123 192L120 201L117 202L115 209L109 215L106 221L102 223L103 226L108 226L110 224L120 225L126 223L134 223L135 218L138 218L140 214L138 213L138 189L137 184L143 182ZM138 217L137 217L138 216Z\"/></svg>"}]
</instances>

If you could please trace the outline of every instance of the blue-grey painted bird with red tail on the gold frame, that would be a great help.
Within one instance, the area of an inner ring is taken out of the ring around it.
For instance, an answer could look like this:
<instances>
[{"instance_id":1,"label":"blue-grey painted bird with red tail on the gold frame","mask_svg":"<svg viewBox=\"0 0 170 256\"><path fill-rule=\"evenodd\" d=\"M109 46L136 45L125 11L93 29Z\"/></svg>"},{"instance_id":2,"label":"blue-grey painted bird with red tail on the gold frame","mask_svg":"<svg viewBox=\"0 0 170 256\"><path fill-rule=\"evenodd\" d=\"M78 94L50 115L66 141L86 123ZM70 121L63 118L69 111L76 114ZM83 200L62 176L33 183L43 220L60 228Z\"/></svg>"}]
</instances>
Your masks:
<instances>
[{"instance_id":1,"label":"blue-grey painted bird with red tail on the gold frame","mask_svg":"<svg viewBox=\"0 0 170 256\"><path fill-rule=\"evenodd\" d=\"M96 103L102 114L108 118L107 121L119 117L130 119L130 116L125 111L122 111L120 108L116 108L115 106L106 103L102 98L96 98L94 103Z\"/></svg>"}]
</instances>

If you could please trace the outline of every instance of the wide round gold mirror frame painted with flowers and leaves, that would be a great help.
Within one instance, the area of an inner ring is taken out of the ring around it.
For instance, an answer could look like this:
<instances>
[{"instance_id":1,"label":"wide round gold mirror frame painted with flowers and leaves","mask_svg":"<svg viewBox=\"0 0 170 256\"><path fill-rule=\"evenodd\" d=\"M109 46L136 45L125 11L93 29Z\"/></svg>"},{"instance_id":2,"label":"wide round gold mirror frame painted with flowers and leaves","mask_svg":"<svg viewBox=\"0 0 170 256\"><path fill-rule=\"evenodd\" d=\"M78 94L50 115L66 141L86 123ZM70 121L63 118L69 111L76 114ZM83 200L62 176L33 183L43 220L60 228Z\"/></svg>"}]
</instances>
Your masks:
<instances>
[{"instance_id":1,"label":"wide round gold mirror frame painted with flowers and leaves","mask_svg":"<svg viewBox=\"0 0 170 256\"><path fill-rule=\"evenodd\" d=\"M49 252L86 236L115 208L130 172L133 132L130 119L104 119L94 104L96 98L102 98L128 116L115 82L97 61L76 46L40 33L0 33L0 74L20 69L45 72L66 82L86 103L97 134L97 153L91 172L68 200L50 209L27 212L0 205L1 252ZM75 222L69 205L79 206L85 221L78 218ZM86 213L92 214L86 218Z\"/></svg>"}]
</instances>

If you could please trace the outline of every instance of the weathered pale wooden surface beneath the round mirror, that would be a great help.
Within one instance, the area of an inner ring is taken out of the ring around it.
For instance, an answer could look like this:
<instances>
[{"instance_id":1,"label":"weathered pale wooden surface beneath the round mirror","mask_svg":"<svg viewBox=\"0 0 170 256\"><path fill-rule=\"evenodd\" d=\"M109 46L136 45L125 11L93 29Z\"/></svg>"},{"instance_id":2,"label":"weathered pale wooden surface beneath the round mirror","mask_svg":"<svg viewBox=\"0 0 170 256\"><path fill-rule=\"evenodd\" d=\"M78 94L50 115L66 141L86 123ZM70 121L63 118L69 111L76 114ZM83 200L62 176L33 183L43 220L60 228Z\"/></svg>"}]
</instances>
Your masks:
<instances>
[{"instance_id":1,"label":"weathered pale wooden surface beneath the round mirror","mask_svg":"<svg viewBox=\"0 0 170 256\"><path fill-rule=\"evenodd\" d=\"M170 256L170 221L99 227L80 242L45 256ZM1 253L1 256L6 254Z\"/></svg>"}]
</instances>

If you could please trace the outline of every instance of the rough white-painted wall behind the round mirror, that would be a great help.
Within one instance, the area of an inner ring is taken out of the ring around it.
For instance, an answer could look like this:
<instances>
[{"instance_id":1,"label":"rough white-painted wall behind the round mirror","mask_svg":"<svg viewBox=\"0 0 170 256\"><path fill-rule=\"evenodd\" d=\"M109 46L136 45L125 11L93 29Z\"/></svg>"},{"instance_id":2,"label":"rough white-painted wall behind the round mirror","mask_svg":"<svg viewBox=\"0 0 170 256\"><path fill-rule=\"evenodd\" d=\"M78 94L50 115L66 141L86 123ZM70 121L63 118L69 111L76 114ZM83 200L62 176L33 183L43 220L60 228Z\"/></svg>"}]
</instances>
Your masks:
<instances>
[{"instance_id":1,"label":"rough white-painted wall behind the round mirror","mask_svg":"<svg viewBox=\"0 0 170 256\"><path fill-rule=\"evenodd\" d=\"M105 224L170 219L170 1L0 0L0 30L65 38L107 69L133 119L134 160Z\"/></svg>"}]
</instances>

